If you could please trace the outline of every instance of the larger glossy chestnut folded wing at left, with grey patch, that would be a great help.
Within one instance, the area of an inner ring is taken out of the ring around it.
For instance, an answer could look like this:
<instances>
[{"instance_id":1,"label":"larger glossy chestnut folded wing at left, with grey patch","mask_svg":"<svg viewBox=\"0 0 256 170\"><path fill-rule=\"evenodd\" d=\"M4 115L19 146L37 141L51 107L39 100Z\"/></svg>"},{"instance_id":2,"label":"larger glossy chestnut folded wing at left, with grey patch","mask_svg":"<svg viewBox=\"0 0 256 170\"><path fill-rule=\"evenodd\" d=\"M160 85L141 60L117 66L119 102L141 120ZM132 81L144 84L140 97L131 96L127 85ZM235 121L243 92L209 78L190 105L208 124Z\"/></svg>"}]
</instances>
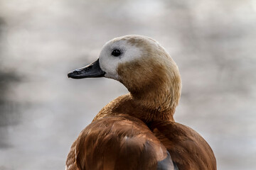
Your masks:
<instances>
[{"instance_id":1,"label":"larger glossy chestnut folded wing at left, with grey patch","mask_svg":"<svg viewBox=\"0 0 256 170\"><path fill-rule=\"evenodd\" d=\"M166 147L137 118L117 115L95 120L73 143L68 170L174 169Z\"/></svg>"}]
</instances>

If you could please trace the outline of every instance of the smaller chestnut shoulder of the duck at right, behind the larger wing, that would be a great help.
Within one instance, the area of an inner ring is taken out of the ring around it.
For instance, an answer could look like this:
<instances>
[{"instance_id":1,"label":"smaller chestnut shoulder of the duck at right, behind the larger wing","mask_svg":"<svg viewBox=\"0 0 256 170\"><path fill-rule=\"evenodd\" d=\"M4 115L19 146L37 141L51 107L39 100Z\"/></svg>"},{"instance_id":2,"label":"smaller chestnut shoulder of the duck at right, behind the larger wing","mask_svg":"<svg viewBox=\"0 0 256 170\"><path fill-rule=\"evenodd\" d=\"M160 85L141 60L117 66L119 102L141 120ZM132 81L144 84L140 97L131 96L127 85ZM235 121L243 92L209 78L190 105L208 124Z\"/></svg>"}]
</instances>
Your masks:
<instances>
[{"instance_id":1,"label":"smaller chestnut shoulder of the duck at right, behind the larger wing","mask_svg":"<svg viewBox=\"0 0 256 170\"><path fill-rule=\"evenodd\" d=\"M164 120L149 123L149 128L169 151L179 170L216 170L213 150L196 131Z\"/></svg>"}]
</instances>

